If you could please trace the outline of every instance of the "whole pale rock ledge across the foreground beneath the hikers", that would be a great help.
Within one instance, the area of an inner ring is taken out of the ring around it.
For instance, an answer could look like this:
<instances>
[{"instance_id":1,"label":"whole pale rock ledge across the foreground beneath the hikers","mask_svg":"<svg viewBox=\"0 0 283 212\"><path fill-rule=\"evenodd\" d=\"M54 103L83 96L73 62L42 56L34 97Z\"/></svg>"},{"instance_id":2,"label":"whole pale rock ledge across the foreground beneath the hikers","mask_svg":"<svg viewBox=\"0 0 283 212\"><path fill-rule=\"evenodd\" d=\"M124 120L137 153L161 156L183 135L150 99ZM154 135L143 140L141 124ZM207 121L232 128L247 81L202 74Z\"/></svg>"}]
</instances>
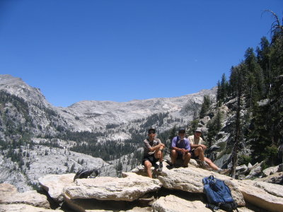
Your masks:
<instances>
[{"instance_id":1,"label":"whole pale rock ledge across the foreground beneath the hikers","mask_svg":"<svg viewBox=\"0 0 283 212\"><path fill-rule=\"evenodd\" d=\"M203 194L202 179L214 175L229 186L239 206L238 211L283 211L283 186L250 179L237 180L195 166L197 164L169 169L164 162L163 171L156 172L157 179L123 172L124 178L96 177L73 182L74 174L67 174L47 175L40 179L40 184L52 199L64 201L64 205L74 211L210 211L205 207L207 199ZM246 167L238 169L246 170ZM137 170L142 172L141 168ZM37 201L40 197L33 195L41 194L36 192L20 194L7 184L0 188L0 211L50 210L46 196ZM245 207L247 202L248 208Z\"/></svg>"}]
</instances>

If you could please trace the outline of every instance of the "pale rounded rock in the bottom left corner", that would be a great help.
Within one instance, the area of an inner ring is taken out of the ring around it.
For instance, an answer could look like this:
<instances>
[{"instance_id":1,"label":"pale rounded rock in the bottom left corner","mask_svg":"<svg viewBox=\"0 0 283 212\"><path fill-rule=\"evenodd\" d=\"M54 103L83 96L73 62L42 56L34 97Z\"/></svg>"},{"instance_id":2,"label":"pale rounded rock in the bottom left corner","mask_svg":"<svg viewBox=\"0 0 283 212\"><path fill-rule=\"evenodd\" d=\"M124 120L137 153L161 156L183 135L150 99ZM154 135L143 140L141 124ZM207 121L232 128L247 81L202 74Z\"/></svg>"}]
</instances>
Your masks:
<instances>
[{"instance_id":1,"label":"pale rounded rock in the bottom left corner","mask_svg":"<svg viewBox=\"0 0 283 212\"><path fill-rule=\"evenodd\" d=\"M36 191L19 193L11 184L0 184L0 204L6 208L8 204L25 204L40 208L50 208L47 196L38 194Z\"/></svg>"}]
</instances>

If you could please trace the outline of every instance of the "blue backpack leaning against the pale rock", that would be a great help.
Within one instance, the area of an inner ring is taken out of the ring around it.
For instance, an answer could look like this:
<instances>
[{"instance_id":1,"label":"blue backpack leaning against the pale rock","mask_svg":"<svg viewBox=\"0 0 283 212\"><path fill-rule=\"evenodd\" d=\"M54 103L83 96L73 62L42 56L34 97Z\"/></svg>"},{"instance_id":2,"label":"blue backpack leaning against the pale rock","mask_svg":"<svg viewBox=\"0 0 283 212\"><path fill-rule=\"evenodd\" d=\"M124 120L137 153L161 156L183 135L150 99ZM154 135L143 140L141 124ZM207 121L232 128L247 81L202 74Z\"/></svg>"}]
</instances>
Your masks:
<instances>
[{"instance_id":1,"label":"blue backpack leaning against the pale rock","mask_svg":"<svg viewBox=\"0 0 283 212\"><path fill-rule=\"evenodd\" d=\"M204 177L202 179L204 184L204 194L207 196L207 208L212 210L218 210L221 208L224 211L237 210L237 203L233 200L231 191L226 184L220 180L213 177Z\"/></svg>"}]
</instances>

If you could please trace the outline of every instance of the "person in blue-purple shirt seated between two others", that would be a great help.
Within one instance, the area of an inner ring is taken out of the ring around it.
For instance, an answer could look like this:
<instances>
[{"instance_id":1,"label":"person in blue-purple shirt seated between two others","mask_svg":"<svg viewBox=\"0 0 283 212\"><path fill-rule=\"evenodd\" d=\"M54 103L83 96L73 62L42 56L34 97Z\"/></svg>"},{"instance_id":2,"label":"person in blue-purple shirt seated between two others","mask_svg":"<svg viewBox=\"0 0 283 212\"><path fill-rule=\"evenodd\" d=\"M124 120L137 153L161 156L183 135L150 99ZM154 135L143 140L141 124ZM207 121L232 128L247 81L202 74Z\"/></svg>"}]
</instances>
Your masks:
<instances>
[{"instance_id":1,"label":"person in blue-purple shirt seated between two others","mask_svg":"<svg viewBox=\"0 0 283 212\"><path fill-rule=\"evenodd\" d=\"M179 129L179 136L175 136L171 143L171 163L175 166L178 158L183 160L183 166L187 167L190 161L190 141L185 138L185 129Z\"/></svg>"}]
</instances>

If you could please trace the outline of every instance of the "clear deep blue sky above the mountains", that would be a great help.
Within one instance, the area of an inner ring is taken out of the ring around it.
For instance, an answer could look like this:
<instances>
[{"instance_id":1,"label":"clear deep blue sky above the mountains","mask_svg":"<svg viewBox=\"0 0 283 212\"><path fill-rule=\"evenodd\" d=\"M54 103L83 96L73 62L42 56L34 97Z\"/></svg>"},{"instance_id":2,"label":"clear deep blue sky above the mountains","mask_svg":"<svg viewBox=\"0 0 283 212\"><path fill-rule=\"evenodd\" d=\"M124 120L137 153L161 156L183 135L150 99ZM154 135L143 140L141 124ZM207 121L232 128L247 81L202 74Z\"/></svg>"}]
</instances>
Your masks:
<instances>
[{"instance_id":1,"label":"clear deep blue sky above the mountains","mask_svg":"<svg viewBox=\"0 0 283 212\"><path fill-rule=\"evenodd\" d=\"M55 106L165 98L216 86L270 40L282 0L0 0L0 73Z\"/></svg>"}]
</instances>

